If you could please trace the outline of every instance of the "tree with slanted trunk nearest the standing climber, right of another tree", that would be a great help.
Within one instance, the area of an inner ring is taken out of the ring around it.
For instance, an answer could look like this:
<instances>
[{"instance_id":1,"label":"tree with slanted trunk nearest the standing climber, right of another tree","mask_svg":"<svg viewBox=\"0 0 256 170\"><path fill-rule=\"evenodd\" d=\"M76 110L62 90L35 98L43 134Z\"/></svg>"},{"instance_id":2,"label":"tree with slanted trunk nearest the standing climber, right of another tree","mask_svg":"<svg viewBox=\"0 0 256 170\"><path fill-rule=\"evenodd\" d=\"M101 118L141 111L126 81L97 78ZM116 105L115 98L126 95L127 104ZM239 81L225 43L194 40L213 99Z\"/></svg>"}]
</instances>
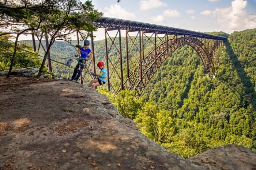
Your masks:
<instances>
[{"instance_id":1,"label":"tree with slanted trunk nearest the standing climber, right of another tree","mask_svg":"<svg viewBox=\"0 0 256 170\"><path fill-rule=\"evenodd\" d=\"M77 30L95 31L97 28L90 21L102 15L88 0L84 4L80 0L63 0L54 7L56 12L46 19L47 27L42 30L48 32L51 38L37 77L40 77L47 54L56 39L67 39L70 33Z\"/></svg>"}]
</instances>

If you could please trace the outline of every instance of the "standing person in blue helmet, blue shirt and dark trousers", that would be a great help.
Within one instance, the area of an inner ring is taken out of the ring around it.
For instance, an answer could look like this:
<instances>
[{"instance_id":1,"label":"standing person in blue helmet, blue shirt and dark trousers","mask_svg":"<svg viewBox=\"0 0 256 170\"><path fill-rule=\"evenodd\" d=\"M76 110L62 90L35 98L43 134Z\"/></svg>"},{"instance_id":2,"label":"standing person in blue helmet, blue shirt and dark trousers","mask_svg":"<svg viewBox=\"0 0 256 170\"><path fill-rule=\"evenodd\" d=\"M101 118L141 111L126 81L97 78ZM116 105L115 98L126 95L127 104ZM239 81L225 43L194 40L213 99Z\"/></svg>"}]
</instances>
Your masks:
<instances>
[{"instance_id":1,"label":"standing person in blue helmet, blue shirt and dark trousers","mask_svg":"<svg viewBox=\"0 0 256 170\"><path fill-rule=\"evenodd\" d=\"M71 79L69 79L69 80L77 81L83 71L84 66L86 66L86 62L89 59L93 58L93 53L91 52L91 49L89 48L89 46L90 46L90 41L85 40L83 47L79 48L79 52L78 52L78 56L80 56L80 58L78 60L79 62L78 62L78 64L76 64L73 75L72 75Z\"/></svg>"}]
</instances>

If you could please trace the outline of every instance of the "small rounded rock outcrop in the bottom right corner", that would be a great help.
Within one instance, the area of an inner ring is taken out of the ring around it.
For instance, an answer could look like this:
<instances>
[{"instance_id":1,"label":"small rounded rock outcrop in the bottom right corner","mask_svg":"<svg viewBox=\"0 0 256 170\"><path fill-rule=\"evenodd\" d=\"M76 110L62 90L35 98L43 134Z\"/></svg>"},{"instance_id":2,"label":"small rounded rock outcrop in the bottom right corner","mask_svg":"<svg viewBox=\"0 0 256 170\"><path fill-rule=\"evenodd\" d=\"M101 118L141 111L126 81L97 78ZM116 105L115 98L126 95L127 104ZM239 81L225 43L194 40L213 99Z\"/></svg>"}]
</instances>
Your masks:
<instances>
[{"instance_id":1,"label":"small rounded rock outcrop in the bottom right corner","mask_svg":"<svg viewBox=\"0 0 256 170\"><path fill-rule=\"evenodd\" d=\"M256 170L256 153L235 144L210 149L187 160L211 170Z\"/></svg>"}]
</instances>

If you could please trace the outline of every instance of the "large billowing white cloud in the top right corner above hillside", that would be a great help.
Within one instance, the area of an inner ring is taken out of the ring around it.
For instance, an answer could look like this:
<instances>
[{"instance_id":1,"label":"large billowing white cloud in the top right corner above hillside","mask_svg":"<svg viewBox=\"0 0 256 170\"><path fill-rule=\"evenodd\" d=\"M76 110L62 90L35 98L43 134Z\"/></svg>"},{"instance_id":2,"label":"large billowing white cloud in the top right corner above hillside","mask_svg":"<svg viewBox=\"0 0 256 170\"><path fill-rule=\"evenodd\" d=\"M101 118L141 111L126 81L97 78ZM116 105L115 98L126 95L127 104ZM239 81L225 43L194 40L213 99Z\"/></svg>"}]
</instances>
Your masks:
<instances>
[{"instance_id":1,"label":"large billowing white cloud in the top right corner above hillside","mask_svg":"<svg viewBox=\"0 0 256 170\"><path fill-rule=\"evenodd\" d=\"M216 9L213 14L218 17L218 24L229 33L256 28L256 15L245 10L246 0L234 0L231 7Z\"/></svg>"}]
</instances>

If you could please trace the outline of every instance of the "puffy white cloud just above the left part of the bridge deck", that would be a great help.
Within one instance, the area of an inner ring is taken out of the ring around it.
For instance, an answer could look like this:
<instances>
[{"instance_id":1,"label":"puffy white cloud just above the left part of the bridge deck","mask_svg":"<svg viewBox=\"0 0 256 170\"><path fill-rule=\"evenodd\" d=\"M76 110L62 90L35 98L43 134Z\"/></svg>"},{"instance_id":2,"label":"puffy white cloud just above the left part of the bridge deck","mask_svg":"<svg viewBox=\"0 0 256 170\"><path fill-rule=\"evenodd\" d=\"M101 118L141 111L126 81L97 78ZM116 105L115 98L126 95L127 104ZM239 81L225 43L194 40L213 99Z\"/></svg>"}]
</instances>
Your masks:
<instances>
[{"instance_id":1,"label":"puffy white cloud just above the left part of the bridge deck","mask_svg":"<svg viewBox=\"0 0 256 170\"><path fill-rule=\"evenodd\" d=\"M120 19L133 19L135 18L135 14L126 11L124 8L122 8L120 5L112 4L110 7L104 8L106 12L104 12L104 16L106 17L114 17L114 18L120 18Z\"/></svg>"}]
</instances>

